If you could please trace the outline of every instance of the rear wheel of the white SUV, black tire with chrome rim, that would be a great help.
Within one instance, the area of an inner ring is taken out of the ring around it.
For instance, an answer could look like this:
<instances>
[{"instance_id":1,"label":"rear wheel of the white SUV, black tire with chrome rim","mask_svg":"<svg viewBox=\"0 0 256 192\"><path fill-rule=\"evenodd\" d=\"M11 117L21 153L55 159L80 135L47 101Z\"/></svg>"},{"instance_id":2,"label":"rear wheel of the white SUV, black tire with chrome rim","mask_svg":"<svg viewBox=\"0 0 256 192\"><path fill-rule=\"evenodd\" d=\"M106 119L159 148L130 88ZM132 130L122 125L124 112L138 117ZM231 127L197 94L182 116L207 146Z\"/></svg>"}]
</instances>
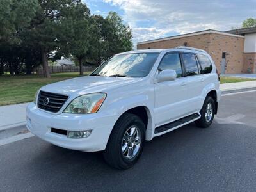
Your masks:
<instances>
[{"instance_id":1,"label":"rear wheel of the white SUV, black tire with chrome rim","mask_svg":"<svg viewBox=\"0 0 256 192\"><path fill-rule=\"evenodd\" d=\"M209 107L209 105L211 107ZM209 113L209 108L211 108L211 115ZM196 122L195 122L196 126L201 127L201 128L209 127L212 124L212 120L213 120L214 114L215 114L215 102L212 99L212 97L207 96L205 98L203 107L200 111L200 114L201 114L201 118L196 120Z\"/></svg>"}]
</instances>

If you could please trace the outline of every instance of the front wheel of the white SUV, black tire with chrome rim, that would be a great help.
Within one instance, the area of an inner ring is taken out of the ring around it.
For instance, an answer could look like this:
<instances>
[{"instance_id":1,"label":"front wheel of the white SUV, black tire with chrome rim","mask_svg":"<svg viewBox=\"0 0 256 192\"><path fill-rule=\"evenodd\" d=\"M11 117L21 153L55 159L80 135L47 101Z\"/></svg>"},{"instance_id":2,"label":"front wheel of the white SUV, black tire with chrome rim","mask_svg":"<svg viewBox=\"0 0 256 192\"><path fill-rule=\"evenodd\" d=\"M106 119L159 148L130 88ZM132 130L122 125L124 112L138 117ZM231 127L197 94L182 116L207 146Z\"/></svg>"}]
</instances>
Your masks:
<instances>
[{"instance_id":1,"label":"front wheel of the white SUV, black tire with chrome rim","mask_svg":"<svg viewBox=\"0 0 256 192\"><path fill-rule=\"evenodd\" d=\"M134 136L131 136L132 131ZM103 152L106 163L120 170L131 168L141 155L144 140L145 125L141 118L125 113L113 127L108 145Z\"/></svg>"}]
</instances>

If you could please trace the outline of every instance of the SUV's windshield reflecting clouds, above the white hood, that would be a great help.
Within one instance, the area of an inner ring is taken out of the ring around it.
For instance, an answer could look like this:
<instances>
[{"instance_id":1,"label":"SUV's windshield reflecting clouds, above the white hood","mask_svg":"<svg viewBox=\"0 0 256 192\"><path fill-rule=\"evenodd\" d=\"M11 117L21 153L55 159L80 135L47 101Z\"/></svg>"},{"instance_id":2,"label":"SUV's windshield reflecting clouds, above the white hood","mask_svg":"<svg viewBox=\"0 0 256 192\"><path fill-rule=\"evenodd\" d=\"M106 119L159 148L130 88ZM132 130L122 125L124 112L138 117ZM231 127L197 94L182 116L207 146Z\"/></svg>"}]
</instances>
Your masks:
<instances>
[{"instance_id":1,"label":"SUV's windshield reflecting clouds, above the white hood","mask_svg":"<svg viewBox=\"0 0 256 192\"><path fill-rule=\"evenodd\" d=\"M159 53L135 53L113 56L100 65L91 76L145 77Z\"/></svg>"}]
</instances>

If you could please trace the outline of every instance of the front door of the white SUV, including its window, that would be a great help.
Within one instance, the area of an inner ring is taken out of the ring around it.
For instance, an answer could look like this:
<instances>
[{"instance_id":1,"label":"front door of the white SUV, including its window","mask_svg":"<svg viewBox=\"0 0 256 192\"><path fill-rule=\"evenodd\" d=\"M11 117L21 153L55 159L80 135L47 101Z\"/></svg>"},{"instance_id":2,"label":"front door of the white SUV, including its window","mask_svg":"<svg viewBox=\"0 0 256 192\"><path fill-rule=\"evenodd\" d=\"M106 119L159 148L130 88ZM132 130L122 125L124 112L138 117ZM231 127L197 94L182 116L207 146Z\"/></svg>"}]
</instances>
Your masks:
<instances>
[{"instance_id":1,"label":"front door of the white SUV, including its window","mask_svg":"<svg viewBox=\"0 0 256 192\"><path fill-rule=\"evenodd\" d=\"M183 77L179 52L168 52L163 56L157 73L166 69L175 70L177 78L173 81L154 83L156 127L181 118L188 111L188 84L186 77Z\"/></svg>"}]
</instances>

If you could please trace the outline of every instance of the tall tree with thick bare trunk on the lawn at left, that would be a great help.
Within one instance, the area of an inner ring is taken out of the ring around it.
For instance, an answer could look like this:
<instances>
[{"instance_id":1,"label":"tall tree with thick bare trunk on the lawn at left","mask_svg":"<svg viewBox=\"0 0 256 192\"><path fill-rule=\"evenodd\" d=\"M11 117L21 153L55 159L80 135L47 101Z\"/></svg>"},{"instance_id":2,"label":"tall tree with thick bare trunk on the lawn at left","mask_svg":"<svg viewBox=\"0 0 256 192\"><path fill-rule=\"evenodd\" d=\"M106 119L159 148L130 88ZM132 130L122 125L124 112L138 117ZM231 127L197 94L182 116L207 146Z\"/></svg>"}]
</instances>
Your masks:
<instances>
[{"instance_id":1,"label":"tall tree with thick bare trunk on the lawn at left","mask_svg":"<svg viewBox=\"0 0 256 192\"><path fill-rule=\"evenodd\" d=\"M65 26L60 22L67 17L68 9L76 0L38 0L40 8L31 21L28 35L41 50L44 77L51 77L48 68L48 57L51 51L60 47L60 38L65 34Z\"/></svg>"}]
</instances>

